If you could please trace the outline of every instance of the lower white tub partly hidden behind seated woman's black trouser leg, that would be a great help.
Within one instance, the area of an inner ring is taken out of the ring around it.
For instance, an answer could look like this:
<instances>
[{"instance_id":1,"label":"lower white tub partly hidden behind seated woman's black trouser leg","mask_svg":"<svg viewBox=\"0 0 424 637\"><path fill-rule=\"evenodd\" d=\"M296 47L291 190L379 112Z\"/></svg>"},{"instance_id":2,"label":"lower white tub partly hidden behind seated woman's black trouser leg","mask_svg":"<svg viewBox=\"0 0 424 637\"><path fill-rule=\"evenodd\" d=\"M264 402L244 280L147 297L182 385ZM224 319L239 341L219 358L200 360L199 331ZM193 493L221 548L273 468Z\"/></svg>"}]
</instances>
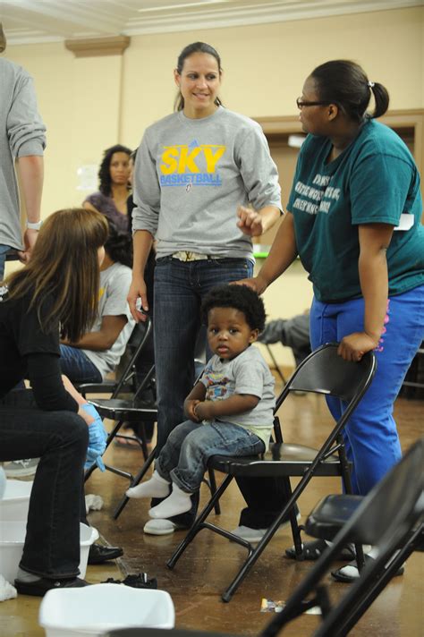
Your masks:
<instances>
[{"instance_id":1,"label":"lower white tub partly hidden behind seated woman's black trouser leg","mask_svg":"<svg viewBox=\"0 0 424 637\"><path fill-rule=\"evenodd\" d=\"M27 522L3 522L0 520L0 573L13 584L21 562ZM85 577L89 548L98 539L98 530L80 524L81 562L80 577Z\"/></svg>"}]
</instances>

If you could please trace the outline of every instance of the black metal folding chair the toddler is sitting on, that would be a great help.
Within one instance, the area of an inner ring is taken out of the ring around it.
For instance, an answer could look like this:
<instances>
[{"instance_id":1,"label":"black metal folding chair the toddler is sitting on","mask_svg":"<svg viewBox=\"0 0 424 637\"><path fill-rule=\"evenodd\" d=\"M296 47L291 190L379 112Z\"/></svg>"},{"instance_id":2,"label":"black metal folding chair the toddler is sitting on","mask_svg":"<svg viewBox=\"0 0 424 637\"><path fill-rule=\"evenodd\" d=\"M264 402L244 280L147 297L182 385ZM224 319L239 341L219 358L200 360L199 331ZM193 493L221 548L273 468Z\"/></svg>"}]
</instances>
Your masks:
<instances>
[{"instance_id":1,"label":"black metal folding chair the toddler is sitting on","mask_svg":"<svg viewBox=\"0 0 424 637\"><path fill-rule=\"evenodd\" d=\"M322 395L338 396L345 405L342 417L335 423L335 428L327 437L326 442L319 450L308 446L284 444L278 418L275 419L275 443L270 445L267 454L254 457L228 457L213 456L209 463L209 469L221 471L226 475L216 493L210 498L208 505L199 514L186 537L174 551L173 556L167 562L169 568L182 556L201 529L209 529L226 539L241 545L248 550L248 556L242 567L222 595L225 602L230 601L233 593L238 589L250 568L267 547L267 543L274 536L281 522L289 515L292 524L293 541L296 556L302 559L302 545L299 527L296 521L294 505L310 479L314 476L342 476L346 493L352 493L350 479L350 467L346 458L343 444L343 427L352 415L353 410L360 402L362 395L367 391L376 370L376 359L373 352L367 353L360 362L344 361L337 354L337 344L326 344L315 352L312 352L294 371L292 378L284 387L283 392L276 400L276 412L281 407L286 397L293 391L311 392ZM226 488L235 477L265 478L280 477L284 480L284 488L287 493L287 501L275 522L267 529L259 544L253 548L250 542L239 538L229 531L206 522L208 514L212 511L216 502L223 496ZM290 477L298 476L301 480L293 493L290 485ZM361 546L357 546L357 556L360 566L363 565Z\"/></svg>"}]
</instances>

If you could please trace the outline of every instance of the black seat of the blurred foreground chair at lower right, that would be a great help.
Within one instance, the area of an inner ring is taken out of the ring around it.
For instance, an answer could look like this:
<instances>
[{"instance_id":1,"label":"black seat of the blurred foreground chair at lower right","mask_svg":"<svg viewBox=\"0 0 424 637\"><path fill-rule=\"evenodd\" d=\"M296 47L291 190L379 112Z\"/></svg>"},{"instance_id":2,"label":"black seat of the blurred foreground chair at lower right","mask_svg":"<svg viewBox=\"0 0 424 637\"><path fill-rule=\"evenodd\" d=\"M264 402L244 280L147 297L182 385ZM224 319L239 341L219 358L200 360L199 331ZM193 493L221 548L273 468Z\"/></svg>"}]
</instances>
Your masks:
<instances>
[{"instance_id":1,"label":"black seat of the blurred foreground chair at lower right","mask_svg":"<svg viewBox=\"0 0 424 637\"><path fill-rule=\"evenodd\" d=\"M362 496L346 494L324 497L310 512L305 523L305 531L312 538L334 539L362 500Z\"/></svg>"}]
</instances>

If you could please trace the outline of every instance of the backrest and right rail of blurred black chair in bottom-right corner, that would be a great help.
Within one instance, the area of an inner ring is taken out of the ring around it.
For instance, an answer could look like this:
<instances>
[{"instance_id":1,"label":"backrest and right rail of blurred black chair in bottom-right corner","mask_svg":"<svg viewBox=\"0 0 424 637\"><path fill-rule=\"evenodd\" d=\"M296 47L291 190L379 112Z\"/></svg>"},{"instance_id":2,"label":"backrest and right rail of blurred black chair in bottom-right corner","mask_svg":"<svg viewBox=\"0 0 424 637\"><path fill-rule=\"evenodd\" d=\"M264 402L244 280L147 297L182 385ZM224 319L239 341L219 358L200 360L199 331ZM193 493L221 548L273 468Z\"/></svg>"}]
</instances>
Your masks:
<instances>
[{"instance_id":1,"label":"backrest and right rail of blurred black chair in bottom-right corner","mask_svg":"<svg viewBox=\"0 0 424 637\"><path fill-rule=\"evenodd\" d=\"M413 537L424 519L424 437L386 474L335 537L333 550L349 537L374 545L375 558L365 565L347 594L323 619L314 637L342 637L352 630L377 595L384 590L403 558L411 555ZM412 544L411 544L412 542ZM398 555L400 551L400 555ZM318 565L317 565L318 567ZM392 573L390 573L392 570Z\"/></svg>"}]
</instances>

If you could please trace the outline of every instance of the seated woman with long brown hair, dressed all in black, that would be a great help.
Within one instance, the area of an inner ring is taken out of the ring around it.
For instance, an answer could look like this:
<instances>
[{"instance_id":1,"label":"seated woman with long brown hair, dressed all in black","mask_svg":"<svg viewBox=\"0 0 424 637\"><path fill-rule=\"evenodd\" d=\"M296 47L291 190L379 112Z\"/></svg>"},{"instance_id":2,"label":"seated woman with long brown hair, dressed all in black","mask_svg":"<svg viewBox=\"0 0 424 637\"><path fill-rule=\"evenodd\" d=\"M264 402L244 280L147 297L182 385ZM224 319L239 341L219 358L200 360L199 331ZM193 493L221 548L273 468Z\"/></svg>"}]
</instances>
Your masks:
<instances>
[{"instance_id":1,"label":"seated woman with long brown hair, dressed all in black","mask_svg":"<svg viewBox=\"0 0 424 637\"><path fill-rule=\"evenodd\" d=\"M59 210L29 264L0 287L0 461L40 457L15 582L22 593L86 583L78 578L80 507L94 419L61 376L59 337L79 338L96 316L106 238L103 215ZM23 378L31 391L13 389Z\"/></svg>"}]
</instances>

